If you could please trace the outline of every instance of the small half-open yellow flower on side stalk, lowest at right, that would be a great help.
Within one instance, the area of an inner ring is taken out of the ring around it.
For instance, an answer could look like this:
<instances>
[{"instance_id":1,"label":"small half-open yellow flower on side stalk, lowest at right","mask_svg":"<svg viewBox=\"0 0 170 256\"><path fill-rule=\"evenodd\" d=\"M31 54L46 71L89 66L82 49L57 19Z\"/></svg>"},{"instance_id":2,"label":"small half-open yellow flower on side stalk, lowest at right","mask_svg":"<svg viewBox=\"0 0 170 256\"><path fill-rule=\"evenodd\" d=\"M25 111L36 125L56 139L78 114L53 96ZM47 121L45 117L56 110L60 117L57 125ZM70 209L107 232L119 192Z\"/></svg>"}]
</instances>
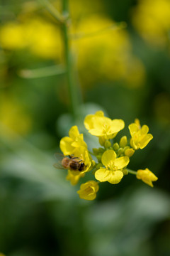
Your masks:
<instances>
[{"instance_id":1,"label":"small half-open yellow flower on side stalk, lowest at right","mask_svg":"<svg viewBox=\"0 0 170 256\"><path fill-rule=\"evenodd\" d=\"M157 176L155 176L152 171L149 171L149 169L145 170L138 170L137 171L137 178L142 179L143 182L147 183L147 185L152 186L152 181L157 181Z\"/></svg>"}]
</instances>

